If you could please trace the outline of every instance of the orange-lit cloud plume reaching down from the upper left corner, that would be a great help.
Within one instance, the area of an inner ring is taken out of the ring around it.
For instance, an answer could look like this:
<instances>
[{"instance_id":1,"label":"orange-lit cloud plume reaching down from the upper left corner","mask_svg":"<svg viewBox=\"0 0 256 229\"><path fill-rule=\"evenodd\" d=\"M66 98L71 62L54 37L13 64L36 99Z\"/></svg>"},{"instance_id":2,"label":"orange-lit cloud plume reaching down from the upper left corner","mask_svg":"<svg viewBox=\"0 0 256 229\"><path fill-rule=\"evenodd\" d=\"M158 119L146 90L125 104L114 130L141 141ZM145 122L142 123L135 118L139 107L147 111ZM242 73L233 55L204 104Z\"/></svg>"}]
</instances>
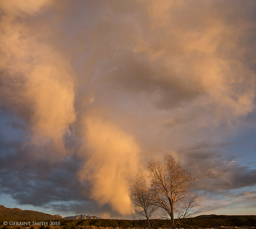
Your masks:
<instances>
[{"instance_id":1,"label":"orange-lit cloud plume reaching down from the upper left corner","mask_svg":"<svg viewBox=\"0 0 256 229\"><path fill-rule=\"evenodd\" d=\"M9 1L3 6L2 94L30 120L39 141L46 136L61 145L65 129L75 121L73 70L60 54L30 37L25 22L15 20L45 5L47 1Z\"/></svg>"}]
</instances>

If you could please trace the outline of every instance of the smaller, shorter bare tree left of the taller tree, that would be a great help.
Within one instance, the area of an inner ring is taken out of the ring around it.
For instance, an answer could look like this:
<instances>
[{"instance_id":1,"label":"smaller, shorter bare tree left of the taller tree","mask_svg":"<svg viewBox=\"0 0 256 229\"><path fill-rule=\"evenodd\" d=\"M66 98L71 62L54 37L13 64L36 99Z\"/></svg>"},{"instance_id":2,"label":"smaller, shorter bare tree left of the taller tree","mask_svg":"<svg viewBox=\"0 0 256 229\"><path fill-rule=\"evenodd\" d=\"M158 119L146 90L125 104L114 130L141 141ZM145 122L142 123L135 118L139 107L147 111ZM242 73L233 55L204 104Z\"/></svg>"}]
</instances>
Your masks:
<instances>
[{"instance_id":1,"label":"smaller, shorter bare tree left of the taller tree","mask_svg":"<svg viewBox=\"0 0 256 229\"><path fill-rule=\"evenodd\" d=\"M131 205L135 214L139 218L146 218L150 227L149 219L152 217L154 211L158 206L154 205L154 198L149 192L146 180L142 173L136 175L135 180L130 180L130 198L133 205Z\"/></svg>"}]
</instances>

